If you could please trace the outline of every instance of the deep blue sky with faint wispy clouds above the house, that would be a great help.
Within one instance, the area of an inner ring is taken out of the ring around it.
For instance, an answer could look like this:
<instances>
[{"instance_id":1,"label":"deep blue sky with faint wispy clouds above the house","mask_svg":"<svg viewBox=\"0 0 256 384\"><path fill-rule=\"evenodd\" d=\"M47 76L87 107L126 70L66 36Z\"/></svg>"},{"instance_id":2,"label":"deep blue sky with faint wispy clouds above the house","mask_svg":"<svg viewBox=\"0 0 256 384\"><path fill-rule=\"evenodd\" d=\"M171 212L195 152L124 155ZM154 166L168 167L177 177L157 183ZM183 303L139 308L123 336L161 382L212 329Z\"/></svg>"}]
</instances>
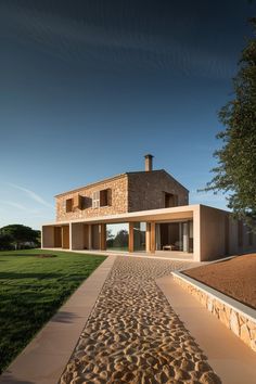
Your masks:
<instances>
[{"instance_id":1,"label":"deep blue sky with faint wispy clouds above the house","mask_svg":"<svg viewBox=\"0 0 256 384\"><path fill-rule=\"evenodd\" d=\"M190 190L210 180L217 112L255 2L0 0L0 227L40 228L53 196L152 153Z\"/></svg>"}]
</instances>

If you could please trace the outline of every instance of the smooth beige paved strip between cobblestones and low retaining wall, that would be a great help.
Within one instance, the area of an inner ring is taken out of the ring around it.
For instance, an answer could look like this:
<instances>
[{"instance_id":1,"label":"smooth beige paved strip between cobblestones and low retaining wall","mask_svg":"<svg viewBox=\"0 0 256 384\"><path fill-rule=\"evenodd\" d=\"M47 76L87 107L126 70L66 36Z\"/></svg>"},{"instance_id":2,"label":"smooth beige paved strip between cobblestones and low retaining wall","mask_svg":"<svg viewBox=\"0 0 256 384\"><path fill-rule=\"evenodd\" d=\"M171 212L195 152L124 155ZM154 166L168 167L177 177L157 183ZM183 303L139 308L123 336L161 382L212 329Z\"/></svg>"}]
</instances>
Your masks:
<instances>
[{"instance_id":1,"label":"smooth beige paved strip between cobblestones and low retaining wall","mask_svg":"<svg viewBox=\"0 0 256 384\"><path fill-rule=\"evenodd\" d=\"M254 384L255 353L215 318L196 298L165 277L156 280L172 309L204 350L223 384Z\"/></svg>"}]
</instances>

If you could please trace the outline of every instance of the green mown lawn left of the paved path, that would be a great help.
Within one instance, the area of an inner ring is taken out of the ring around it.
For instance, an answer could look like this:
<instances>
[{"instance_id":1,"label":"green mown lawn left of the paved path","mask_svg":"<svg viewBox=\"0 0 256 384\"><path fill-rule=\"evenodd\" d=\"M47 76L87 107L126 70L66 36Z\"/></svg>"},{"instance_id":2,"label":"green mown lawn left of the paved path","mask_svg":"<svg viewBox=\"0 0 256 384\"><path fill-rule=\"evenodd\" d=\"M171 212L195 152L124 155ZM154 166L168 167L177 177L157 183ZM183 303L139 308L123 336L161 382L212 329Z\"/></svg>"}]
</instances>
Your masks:
<instances>
[{"instance_id":1,"label":"green mown lawn left of the paved path","mask_svg":"<svg viewBox=\"0 0 256 384\"><path fill-rule=\"evenodd\" d=\"M0 252L0 372L104 259L72 252Z\"/></svg>"}]
</instances>

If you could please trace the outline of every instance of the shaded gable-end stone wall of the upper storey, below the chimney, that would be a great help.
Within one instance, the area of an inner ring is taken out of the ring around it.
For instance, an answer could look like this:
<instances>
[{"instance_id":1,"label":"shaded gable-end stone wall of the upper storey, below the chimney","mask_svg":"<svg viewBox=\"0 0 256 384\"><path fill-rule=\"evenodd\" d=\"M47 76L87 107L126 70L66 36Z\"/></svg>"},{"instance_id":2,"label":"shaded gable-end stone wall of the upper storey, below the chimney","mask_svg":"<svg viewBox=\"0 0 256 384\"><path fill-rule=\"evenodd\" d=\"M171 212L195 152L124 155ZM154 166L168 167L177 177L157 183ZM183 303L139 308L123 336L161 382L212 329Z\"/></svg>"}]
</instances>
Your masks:
<instances>
[{"instance_id":1,"label":"shaded gable-end stone wall of the upper storey, below the chimney","mask_svg":"<svg viewBox=\"0 0 256 384\"><path fill-rule=\"evenodd\" d=\"M128 212L165 208L165 194L178 196L178 205L189 204L189 191L165 170L128 174Z\"/></svg>"}]
</instances>

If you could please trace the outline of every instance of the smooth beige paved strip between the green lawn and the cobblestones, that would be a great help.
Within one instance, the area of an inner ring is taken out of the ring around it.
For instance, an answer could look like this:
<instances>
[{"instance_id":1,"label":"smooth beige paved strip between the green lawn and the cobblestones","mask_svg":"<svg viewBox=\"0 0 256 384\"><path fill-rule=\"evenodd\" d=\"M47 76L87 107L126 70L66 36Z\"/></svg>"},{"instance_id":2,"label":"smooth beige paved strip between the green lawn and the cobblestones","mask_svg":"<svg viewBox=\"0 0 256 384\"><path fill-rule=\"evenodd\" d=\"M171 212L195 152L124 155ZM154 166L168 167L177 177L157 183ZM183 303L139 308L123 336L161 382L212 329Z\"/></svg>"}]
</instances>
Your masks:
<instances>
[{"instance_id":1,"label":"smooth beige paved strip between the green lawn and the cobblestones","mask_svg":"<svg viewBox=\"0 0 256 384\"><path fill-rule=\"evenodd\" d=\"M116 256L108 256L78 287L0 376L1 384L56 384Z\"/></svg>"}]
</instances>

